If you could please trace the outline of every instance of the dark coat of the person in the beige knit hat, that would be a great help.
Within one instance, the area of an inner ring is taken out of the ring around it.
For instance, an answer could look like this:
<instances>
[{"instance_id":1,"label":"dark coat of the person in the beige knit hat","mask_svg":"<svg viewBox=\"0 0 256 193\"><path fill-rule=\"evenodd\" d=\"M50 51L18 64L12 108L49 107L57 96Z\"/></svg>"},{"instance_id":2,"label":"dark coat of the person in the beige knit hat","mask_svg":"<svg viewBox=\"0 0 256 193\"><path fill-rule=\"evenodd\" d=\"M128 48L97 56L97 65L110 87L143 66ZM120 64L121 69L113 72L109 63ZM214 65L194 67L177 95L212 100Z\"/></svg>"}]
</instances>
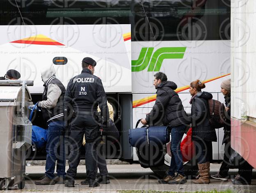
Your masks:
<instances>
[{"instance_id":1,"label":"dark coat of the person in the beige knit hat","mask_svg":"<svg viewBox=\"0 0 256 193\"><path fill-rule=\"evenodd\" d=\"M230 142L230 131L231 131L231 118L230 118L230 103L231 103L231 95L230 93L228 93L227 95L225 95L225 106L229 107L228 111L225 111L225 123L226 125L224 126L224 138L222 140L222 144L224 143L229 143Z\"/></svg>"}]
</instances>

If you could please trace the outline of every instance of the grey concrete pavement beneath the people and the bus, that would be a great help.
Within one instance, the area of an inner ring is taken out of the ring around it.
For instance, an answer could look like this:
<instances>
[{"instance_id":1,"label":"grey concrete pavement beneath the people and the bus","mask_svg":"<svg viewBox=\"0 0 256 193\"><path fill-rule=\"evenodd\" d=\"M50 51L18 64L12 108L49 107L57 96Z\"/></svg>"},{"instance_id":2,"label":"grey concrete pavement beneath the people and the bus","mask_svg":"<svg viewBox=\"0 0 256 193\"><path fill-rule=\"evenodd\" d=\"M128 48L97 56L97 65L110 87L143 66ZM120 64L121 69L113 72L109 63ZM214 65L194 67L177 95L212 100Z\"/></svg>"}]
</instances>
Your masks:
<instances>
[{"instance_id":1,"label":"grey concrete pavement beneath the people and the bus","mask_svg":"<svg viewBox=\"0 0 256 193\"><path fill-rule=\"evenodd\" d=\"M211 164L211 173L217 173L220 164ZM68 168L68 167L66 167ZM186 184L169 185L159 184L158 177L149 168L142 168L139 164L132 165L108 165L111 178L110 184L101 184L100 187L89 188L88 185L80 185L80 182L86 177L85 166L78 166L78 175L75 180L75 188L66 188L64 184L55 184L47 186L38 186L34 184L34 180L44 175L44 166L27 166L26 172L30 175L26 179L24 192L117 192L117 190L160 190L160 191L209 191L209 190L233 190L238 192L256 191L256 172L254 170L254 179L250 186L233 185L229 179L228 182L221 182L211 179L210 184L192 184L191 180L187 180ZM230 170L231 175L235 175L237 170ZM17 187L14 187L16 189ZM12 192L12 191L8 191ZM17 191L14 191L17 192Z\"/></svg>"}]
</instances>

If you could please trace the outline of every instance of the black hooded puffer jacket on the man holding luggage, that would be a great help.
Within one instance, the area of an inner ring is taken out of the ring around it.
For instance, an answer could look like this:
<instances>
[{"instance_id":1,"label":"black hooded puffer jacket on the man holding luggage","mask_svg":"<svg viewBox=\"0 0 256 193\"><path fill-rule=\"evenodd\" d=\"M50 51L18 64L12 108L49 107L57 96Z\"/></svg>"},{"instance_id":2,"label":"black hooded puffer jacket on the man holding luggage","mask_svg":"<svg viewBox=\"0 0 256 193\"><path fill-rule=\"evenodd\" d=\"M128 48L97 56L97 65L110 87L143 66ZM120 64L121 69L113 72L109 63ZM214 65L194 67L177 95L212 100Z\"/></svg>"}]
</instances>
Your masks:
<instances>
[{"instance_id":1,"label":"black hooded puffer jacket on the man holding luggage","mask_svg":"<svg viewBox=\"0 0 256 193\"><path fill-rule=\"evenodd\" d=\"M175 127L178 125L189 125L187 113L184 110L181 99L174 91L177 85L166 81L158 85L156 100L151 112L146 116L149 125L161 121L163 125Z\"/></svg>"}]
</instances>

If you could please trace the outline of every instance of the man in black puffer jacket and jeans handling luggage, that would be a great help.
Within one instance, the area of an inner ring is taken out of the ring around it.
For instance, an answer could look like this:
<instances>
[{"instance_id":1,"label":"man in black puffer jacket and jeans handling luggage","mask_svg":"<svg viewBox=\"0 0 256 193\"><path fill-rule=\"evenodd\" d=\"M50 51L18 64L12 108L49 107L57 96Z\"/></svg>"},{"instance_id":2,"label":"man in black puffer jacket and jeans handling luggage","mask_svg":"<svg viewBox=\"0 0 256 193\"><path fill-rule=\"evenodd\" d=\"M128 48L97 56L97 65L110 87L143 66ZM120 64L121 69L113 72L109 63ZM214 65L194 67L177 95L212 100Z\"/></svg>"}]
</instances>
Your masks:
<instances>
[{"instance_id":1,"label":"man in black puffer jacket and jeans handling luggage","mask_svg":"<svg viewBox=\"0 0 256 193\"><path fill-rule=\"evenodd\" d=\"M165 179L160 179L161 184L184 184L187 182L183 171L183 160L181 154L181 140L189 121L183 108L181 99L174 91L177 85L167 81L164 73L158 72L154 75L154 86L157 89L156 101L153 109L142 119L142 124L154 125L162 121L163 125L171 128L171 166ZM176 172L176 176L174 177Z\"/></svg>"}]
</instances>

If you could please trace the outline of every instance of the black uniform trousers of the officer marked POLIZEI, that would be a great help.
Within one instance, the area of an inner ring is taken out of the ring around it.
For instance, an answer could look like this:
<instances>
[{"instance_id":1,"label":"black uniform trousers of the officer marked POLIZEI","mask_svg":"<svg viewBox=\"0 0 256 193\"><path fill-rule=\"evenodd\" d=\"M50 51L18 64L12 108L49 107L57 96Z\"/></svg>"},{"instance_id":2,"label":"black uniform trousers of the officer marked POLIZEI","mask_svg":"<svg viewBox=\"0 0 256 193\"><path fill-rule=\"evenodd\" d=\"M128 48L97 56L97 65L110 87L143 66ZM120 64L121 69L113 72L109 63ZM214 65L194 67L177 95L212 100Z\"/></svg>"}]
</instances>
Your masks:
<instances>
[{"instance_id":1,"label":"black uniform trousers of the officer marked POLIZEI","mask_svg":"<svg viewBox=\"0 0 256 193\"><path fill-rule=\"evenodd\" d=\"M80 162L80 149L85 134L85 166L89 179L96 179L97 168L97 146L100 142L99 126L92 115L77 115L71 121L69 143L69 169L67 175L69 179L74 179L77 167Z\"/></svg>"}]
</instances>

